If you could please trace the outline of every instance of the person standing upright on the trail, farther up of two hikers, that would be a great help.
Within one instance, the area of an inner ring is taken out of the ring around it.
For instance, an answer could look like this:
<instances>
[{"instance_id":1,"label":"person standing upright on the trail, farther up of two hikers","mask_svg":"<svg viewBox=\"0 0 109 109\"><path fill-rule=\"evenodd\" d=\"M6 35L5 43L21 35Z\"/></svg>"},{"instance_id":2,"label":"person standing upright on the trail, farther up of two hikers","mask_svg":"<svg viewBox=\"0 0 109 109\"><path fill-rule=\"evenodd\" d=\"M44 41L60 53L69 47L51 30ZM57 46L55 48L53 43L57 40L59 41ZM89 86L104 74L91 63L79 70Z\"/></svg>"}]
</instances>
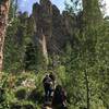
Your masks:
<instances>
[{"instance_id":1,"label":"person standing upright on the trail, farther up of two hikers","mask_svg":"<svg viewBox=\"0 0 109 109\"><path fill-rule=\"evenodd\" d=\"M50 100L51 93L52 93L52 80L47 74L43 80L44 88L45 88L45 99Z\"/></svg>"}]
</instances>

